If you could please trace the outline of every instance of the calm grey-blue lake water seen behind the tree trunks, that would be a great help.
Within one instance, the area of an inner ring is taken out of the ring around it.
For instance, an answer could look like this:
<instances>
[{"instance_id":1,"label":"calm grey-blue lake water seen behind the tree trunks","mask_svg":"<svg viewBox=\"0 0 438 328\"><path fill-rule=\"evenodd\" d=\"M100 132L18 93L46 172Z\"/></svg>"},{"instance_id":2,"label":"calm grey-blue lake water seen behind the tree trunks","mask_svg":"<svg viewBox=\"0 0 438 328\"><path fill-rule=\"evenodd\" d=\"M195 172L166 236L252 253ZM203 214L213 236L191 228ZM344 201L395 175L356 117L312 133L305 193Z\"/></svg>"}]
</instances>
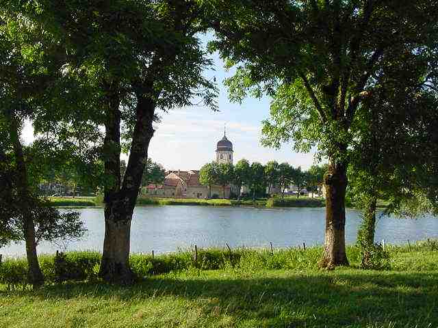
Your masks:
<instances>
[{"instance_id":1,"label":"calm grey-blue lake water seen behind the tree trunks","mask_svg":"<svg viewBox=\"0 0 438 328\"><path fill-rule=\"evenodd\" d=\"M103 208L81 208L88 234L81 241L64 245L66 250L101 251L104 236ZM359 211L347 210L346 242L355 243L360 223ZM137 207L131 225L131 251L166 253L198 247L295 247L324 243L325 208L244 208L214 206L144 206ZM438 238L438 218L420 219L380 217L376 241L407 241ZM41 243L38 253L64 250L60 245ZM0 249L5 256L25 254L23 244Z\"/></svg>"}]
</instances>

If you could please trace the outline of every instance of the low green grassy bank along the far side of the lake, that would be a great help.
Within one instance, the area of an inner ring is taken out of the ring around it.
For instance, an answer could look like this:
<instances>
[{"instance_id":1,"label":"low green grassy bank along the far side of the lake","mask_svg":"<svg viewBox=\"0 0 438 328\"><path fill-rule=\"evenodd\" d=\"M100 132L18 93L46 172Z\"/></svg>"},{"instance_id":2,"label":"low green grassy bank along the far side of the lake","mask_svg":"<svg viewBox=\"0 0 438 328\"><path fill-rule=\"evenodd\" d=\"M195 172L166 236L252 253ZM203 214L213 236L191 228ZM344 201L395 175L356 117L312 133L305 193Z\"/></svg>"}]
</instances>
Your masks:
<instances>
[{"instance_id":1,"label":"low green grassy bank along the far side of the lake","mask_svg":"<svg viewBox=\"0 0 438 328\"><path fill-rule=\"evenodd\" d=\"M99 197L49 197L53 206L57 207L87 207L103 206ZM311 198L307 196L270 198L258 200L199 200L183 198L158 198L140 196L137 200L138 206L147 205L186 205L186 206L253 206L253 207L324 207L323 198Z\"/></svg>"}]
</instances>

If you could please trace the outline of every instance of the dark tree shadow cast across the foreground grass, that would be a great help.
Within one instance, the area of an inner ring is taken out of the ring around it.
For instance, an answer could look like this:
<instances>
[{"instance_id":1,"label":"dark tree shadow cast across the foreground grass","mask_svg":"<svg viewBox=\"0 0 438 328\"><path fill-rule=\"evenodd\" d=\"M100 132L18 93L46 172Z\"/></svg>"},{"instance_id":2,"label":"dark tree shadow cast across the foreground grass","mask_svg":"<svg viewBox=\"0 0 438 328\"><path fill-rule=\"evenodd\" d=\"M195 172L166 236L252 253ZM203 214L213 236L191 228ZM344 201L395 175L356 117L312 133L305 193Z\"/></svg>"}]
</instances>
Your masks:
<instances>
[{"instance_id":1,"label":"dark tree shadow cast across the foreground grass","mask_svg":"<svg viewBox=\"0 0 438 328\"><path fill-rule=\"evenodd\" d=\"M216 271L198 277L151 277L126 288L88 282L14 295L40 300L86 296L109 301L115 297L124 304L183 299L201 309L201 316L231 316L235 325L230 327L438 327L437 282L435 272L340 270L296 275L261 271L243 276Z\"/></svg>"}]
</instances>

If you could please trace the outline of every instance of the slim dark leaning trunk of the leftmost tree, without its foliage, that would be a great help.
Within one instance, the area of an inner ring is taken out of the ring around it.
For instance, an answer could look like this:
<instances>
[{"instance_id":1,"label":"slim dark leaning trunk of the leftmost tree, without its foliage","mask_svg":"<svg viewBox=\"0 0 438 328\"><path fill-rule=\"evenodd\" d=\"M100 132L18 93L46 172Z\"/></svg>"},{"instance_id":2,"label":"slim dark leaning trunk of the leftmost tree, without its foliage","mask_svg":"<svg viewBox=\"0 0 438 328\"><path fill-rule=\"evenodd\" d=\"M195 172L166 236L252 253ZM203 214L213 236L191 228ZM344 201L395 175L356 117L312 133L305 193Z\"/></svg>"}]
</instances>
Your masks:
<instances>
[{"instance_id":1,"label":"slim dark leaning trunk of the leftmost tree, without its foliage","mask_svg":"<svg viewBox=\"0 0 438 328\"><path fill-rule=\"evenodd\" d=\"M38 255L36 253L35 223L31 211L32 197L27 181L27 167L23 154L23 146L21 145L18 135L18 121L14 118L13 114L10 117L10 137L14 145L16 160L16 191L18 200L21 202L21 214L23 217L23 234L25 236L28 265L27 276L29 283L36 287L44 284L44 276L42 275L40 264L38 263Z\"/></svg>"}]
</instances>

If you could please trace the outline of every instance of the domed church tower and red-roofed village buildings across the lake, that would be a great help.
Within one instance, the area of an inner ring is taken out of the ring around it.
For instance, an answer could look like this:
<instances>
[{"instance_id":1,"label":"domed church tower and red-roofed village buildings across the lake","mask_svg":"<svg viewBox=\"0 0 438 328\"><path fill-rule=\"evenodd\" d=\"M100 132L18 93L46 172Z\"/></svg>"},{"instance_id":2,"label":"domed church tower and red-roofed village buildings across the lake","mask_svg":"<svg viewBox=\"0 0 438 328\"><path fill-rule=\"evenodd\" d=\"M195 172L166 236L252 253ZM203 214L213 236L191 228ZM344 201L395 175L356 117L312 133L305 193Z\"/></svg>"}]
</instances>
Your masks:
<instances>
[{"instance_id":1,"label":"domed church tower and red-roofed village buildings across the lake","mask_svg":"<svg viewBox=\"0 0 438 328\"><path fill-rule=\"evenodd\" d=\"M222 139L216 144L216 162L233 164L233 143L227 139L224 132ZM211 186L211 197L229 198L231 192L237 193L235 187L228 185ZM209 189L199 182L199 171L169 171L166 172L163 184L143 186L142 195L150 197L199 198L209 197Z\"/></svg>"}]
</instances>

